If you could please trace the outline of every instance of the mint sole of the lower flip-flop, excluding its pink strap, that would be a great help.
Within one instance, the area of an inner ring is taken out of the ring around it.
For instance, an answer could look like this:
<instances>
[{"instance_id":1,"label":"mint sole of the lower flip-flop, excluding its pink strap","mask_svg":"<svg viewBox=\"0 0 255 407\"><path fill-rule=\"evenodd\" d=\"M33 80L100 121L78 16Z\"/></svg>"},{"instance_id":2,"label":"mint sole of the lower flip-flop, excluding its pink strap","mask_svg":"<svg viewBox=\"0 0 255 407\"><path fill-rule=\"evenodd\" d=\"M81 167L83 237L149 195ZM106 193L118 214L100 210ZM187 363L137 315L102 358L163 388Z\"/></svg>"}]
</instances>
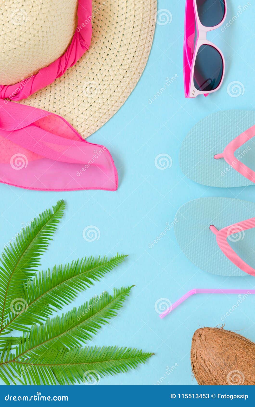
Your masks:
<instances>
[{"instance_id":1,"label":"mint sole of the lower flip-flop, excluding its pink strap","mask_svg":"<svg viewBox=\"0 0 255 407\"><path fill-rule=\"evenodd\" d=\"M201 270L222 276L246 276L222 253L210 225L218 230L255 217L255 204L232 198L199 198L187 202L176 214L174 232L182 252ZM255 229L229 236L228 243L255 268ZM248 259L248 260L247 260Z\"/></svg>"}]
</instances>

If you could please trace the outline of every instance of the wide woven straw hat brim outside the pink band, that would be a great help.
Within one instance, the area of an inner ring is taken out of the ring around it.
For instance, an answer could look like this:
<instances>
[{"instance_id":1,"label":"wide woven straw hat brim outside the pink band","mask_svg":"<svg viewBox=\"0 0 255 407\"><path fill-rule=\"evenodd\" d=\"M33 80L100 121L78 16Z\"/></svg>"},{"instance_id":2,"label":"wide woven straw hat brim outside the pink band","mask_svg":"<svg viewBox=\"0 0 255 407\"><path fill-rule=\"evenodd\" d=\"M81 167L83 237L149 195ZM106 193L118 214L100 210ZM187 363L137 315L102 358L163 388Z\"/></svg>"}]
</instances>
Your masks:
<instances>
[{"instance_id":1,"label":"wide woven straw hat brim outside the pink band","mask_svg":"<svg viewBox=\"0 0 255 407\"><path fill-rule=\"evenodd\" d=\"M95 0L92 10L87 53L52 85L19 102L59 114L84 138L117 112L137 84L153 42L157 1Z\"/></svg>"}]
</instances>

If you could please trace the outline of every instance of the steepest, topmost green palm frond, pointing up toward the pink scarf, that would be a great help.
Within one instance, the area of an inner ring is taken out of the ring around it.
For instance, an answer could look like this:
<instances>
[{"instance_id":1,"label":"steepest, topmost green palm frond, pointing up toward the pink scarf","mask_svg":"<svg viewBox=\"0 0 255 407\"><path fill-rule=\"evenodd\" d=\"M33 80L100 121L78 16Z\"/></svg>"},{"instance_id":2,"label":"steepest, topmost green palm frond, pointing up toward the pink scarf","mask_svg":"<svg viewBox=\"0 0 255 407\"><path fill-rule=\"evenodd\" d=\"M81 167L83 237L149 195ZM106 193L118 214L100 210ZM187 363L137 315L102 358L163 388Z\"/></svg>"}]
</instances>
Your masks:
<instances>
[{"instance_id":1,"label":"steepest, topmost green palm frond, pointing up toward the pink scarf","mask_svg":"<svg viewBox=\"0 0 255 407\"><path fill-rule=\"evenodd\" d=\"M65 204L58 201L53 210L39 214L30 225L17 234L16 241L5 247L0 258L0 332L15 301L23 298L23 282L34 275L39 261L52 240L51 236L63 217Z\"/></svg>"}]
</instances>

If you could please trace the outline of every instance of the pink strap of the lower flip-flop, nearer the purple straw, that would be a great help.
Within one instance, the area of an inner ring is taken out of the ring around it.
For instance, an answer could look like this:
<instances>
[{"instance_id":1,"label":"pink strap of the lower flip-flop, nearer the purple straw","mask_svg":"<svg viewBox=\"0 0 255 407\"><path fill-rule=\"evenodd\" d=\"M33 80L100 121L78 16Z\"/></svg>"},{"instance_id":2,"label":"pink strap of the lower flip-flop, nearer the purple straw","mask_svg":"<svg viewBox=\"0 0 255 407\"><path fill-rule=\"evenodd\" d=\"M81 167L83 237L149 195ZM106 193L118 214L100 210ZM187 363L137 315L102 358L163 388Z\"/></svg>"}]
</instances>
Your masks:
<instances>
[{"instance_id":1,"label":"pink strap of the lower flip-flop, nearer the purple straw","mask_svg":"<svg viewBox=\"0 0 255 407\"><path fill-rule=\"evenodd\" d=\"M223 229L216 229L214 225L210 226L210 230L216 235L216 241L220 250L224 255L239 269L251 276L255 276L255 269L249 266L237 253L232 249L227 241L227 237L235 233L244 233L245 230L255 228L255 218L247 219L246 221L234 223Z\"/></svg>"}]
</instances>

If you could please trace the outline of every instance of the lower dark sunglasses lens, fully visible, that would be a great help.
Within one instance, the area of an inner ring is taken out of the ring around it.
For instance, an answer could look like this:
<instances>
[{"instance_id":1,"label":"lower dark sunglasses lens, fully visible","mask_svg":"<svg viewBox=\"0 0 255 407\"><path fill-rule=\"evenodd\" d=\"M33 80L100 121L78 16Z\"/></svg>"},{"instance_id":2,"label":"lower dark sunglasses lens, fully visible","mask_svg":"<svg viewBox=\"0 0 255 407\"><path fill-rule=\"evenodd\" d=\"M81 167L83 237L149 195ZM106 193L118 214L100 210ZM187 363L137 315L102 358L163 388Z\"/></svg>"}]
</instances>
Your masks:
<instances>
[{"instance_id":1,"label":"lower dark sunglasses lens, fully visible","mask_svg":"<svg viewBox=\"0 0 255 407\"><path fill-rule=\"evenodd\" d=\"M194 66L194 86L207 92L218 88L223 74L223 61L220 53L211 45L199 47Z\"/></svg>"}]
</instances>

